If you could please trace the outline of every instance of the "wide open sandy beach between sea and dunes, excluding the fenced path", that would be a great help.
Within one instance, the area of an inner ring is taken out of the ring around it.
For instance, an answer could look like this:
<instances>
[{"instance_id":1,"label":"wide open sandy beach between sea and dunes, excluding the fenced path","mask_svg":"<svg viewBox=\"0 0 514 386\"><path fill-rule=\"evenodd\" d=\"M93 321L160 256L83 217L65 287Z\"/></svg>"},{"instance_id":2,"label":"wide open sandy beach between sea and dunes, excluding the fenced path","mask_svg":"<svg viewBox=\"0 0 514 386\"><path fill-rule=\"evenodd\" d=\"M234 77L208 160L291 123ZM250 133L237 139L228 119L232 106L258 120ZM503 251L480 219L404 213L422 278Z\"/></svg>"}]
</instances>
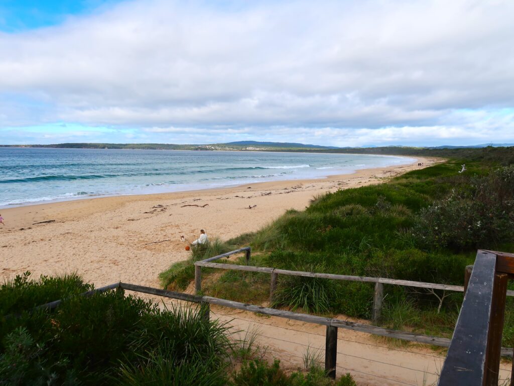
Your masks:
<instances>
[{"instance_id":1,"label":"wide open sandy beach between sea and dunes, excluding the fenced path","mask_svg":"<svg viewBox=\"0 0 514 386\"><path fill-rule=\"evenodd\" d=\"M412 164L323 179L2 209L6 226L0 227L0 276L5 280L25 271L35 278L77 272L96 286L121 280L158 287L158 274L189 256L180 235L192 240L205 229L211 239L228 239L254 232L288 209L304 209L318 194L380 183L420 168L417 162L428 167L440 160L416 157Z\"/></svg>"}]
</instances>

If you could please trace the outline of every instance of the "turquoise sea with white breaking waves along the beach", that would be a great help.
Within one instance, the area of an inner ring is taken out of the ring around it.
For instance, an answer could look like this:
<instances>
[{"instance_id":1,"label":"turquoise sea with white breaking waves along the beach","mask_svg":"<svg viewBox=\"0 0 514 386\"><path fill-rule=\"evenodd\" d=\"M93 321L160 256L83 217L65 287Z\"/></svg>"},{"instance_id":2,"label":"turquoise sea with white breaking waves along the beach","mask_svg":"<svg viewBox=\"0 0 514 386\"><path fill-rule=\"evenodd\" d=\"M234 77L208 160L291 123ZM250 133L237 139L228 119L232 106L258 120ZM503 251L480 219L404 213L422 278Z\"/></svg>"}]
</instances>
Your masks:
<instances>
[{"instance_id":1,"label":"turquoise sea with white breaking waves along the beach","mask_svg":"<svg viewBox=\"0 0 514 386\"><path fill-rule=\"evenodd\" d=\"M360 154L0 148L0 207L323 178L414 161Z\"/></svg>"}]
</instances>

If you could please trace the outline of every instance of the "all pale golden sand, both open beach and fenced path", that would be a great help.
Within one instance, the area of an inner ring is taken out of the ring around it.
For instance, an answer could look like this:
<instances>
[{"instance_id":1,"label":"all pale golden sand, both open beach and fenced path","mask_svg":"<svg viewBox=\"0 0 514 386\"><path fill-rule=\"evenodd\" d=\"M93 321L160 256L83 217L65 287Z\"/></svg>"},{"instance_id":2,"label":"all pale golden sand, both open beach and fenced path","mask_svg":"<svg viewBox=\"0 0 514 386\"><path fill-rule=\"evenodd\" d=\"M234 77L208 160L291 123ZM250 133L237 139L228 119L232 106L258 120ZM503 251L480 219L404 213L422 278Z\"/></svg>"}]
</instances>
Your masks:
<instances>
[{"instance_id":1,"label":"all pale golden sand, both open beach and fenced path","mask_svg":"<svg viewBox=\"0 0 514 386\"><path fill-rule=\"evenodd\" d=\"M160 288L159 272L189 257L180 235L193 240L205 229L210 238L228 239L256 231L287 209L304 209L318 194L387 181L419 168L417 162L427 167L440 160L418 158L410 165L319 180L2 209L7 226L0 227L0 275L7 279L31 271L36 278L77 272L97 287L123 281ZM256 206L248 209L249 205ZM268 347L266 358L280 358L285 369L302 367L307 346L311 351L320 348L323 358L323 326L219 307L211 308L211 318L231 321L238 330L258 328L257 343ZM338 318L355 321L344 315ZM338 376L353 370L359 385L422 384L424 377L430 384L444 358L421 345L387 347L356 331L339 329L339 338ZM508 369L502 370L505 374Z\"/></svg>"}]
</instances>

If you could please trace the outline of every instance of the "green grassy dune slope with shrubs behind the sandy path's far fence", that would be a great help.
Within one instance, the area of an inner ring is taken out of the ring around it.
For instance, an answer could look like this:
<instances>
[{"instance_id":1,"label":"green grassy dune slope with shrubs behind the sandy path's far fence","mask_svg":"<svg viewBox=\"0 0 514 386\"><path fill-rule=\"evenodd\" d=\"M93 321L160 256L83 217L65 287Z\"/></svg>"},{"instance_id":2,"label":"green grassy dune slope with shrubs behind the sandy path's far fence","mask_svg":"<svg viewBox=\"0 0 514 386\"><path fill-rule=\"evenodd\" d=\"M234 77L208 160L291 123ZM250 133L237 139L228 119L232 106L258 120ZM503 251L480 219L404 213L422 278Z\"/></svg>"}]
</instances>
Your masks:
<instances>
[{"instance_id":1,"label":"green grassy dune slope with shrubs behind the sandy path's far fence","mask_svg":"<svg viewBox=\"0 0 514 386\"><path fill-rule=\"evenodd\" d=\"M462 285L464 268L474 261L477 248L512 252L512 223L502 214L506 208L512 215L512 208L505 204L493 211L495 194L503 188L501 179L487 176L514 162L514 148L423 152L452 156L389 183L317 197L306 210L290 210L259 232L228 240L224 249L251 244L260 255L257 263L264 266ZM467 172L457 173L462 164ZM485 197L489 191L491 202ZM268 280L265 275L226 272L205 291L264 301ZM372 295L373 286L366 283L280 277L275 306L369 318ZM434 294L386 286L383 324L450 336L461 302L462 294L453 293L438 312ZM509 312L504 341L514 343L514 314Z\"/></svg>"}]
</instances>

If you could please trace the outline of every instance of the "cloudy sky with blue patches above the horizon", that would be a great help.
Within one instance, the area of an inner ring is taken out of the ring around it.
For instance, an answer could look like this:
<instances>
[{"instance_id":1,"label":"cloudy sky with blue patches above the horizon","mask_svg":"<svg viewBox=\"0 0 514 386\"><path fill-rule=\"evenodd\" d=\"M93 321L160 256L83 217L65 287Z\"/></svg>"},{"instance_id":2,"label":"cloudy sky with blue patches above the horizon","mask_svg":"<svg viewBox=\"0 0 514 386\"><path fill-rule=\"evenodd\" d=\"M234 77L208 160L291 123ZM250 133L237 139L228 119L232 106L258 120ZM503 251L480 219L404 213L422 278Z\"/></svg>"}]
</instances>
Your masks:
<instances>
[{"instance_id":1,"label":"cloudy sky with blue patches above the horizon","mask_svg":"<svg viewBox=\"0 0 514 386\"><path fill-rule=\"evenodd\" d=\"M0 144L514 143L511 0L0 0Z\"/></svg>"}]
</instances>

